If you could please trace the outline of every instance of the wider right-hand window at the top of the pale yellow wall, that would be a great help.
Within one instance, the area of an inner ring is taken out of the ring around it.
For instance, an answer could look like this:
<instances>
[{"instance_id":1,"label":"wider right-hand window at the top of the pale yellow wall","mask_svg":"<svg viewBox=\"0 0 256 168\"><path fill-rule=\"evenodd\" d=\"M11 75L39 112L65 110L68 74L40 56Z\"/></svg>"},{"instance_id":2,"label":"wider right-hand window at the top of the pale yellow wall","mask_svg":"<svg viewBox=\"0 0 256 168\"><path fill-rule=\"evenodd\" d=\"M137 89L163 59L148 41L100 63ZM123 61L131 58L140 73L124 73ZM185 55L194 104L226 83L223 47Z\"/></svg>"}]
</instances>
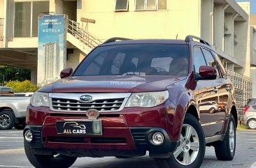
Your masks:
<instances>
[{"instance_id":1,"label":"wider right-hand window at the top of the pale yellow wall","mask_svg":"<svg viewBox=\"0 0 256 168\"><path fill-rule=\"evenodd\" d=\"M135 10L166 10L167 0L135 0Z\"/></svg>"}]
</instances>

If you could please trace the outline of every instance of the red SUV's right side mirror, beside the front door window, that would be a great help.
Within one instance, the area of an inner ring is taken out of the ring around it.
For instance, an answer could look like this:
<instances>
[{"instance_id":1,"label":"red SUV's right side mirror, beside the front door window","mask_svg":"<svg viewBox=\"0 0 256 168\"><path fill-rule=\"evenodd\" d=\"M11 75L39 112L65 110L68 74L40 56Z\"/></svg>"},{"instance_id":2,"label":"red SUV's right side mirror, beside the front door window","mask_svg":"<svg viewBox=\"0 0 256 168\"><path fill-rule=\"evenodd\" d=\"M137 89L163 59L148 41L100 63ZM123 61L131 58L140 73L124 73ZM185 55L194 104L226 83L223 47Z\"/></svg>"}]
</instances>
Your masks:
<instances>
[{"instance_id":1,"label":"red SUV's right side mirror, beside the front door window","mask_svg":"<svg viewBox=\"0 0 256 168\"><path fill-rule=\"evenodd\" d=\"M217 70L211 66L200 66L199 75L195 75L196 80L211 80L217 78Z\"/></svg>"}]
</instances>

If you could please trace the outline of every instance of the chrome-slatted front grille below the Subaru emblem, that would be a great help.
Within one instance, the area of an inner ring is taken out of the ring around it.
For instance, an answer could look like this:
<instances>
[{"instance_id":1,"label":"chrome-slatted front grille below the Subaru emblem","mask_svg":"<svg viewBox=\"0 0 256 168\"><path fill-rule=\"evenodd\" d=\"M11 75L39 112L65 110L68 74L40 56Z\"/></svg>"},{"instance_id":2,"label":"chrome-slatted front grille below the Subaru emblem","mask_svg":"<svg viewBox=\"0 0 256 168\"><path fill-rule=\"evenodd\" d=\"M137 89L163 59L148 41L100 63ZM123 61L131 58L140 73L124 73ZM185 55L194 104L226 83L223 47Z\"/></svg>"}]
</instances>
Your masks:
<instances>
[{"instance_id":1,"label":"chrome-slatted front grille below the Subaru emblem","mask_svg":"<svg viewBox=\"0 0 256 168\"><path fill-rule=\"evenodd\" d=\"M64 111L87 111L87 109L97 109L99 111L116 111L122 106L125 98L95 100L93 102L79 102L78 100L52 98L52 109Z\"/></svg>"}]
</instances>

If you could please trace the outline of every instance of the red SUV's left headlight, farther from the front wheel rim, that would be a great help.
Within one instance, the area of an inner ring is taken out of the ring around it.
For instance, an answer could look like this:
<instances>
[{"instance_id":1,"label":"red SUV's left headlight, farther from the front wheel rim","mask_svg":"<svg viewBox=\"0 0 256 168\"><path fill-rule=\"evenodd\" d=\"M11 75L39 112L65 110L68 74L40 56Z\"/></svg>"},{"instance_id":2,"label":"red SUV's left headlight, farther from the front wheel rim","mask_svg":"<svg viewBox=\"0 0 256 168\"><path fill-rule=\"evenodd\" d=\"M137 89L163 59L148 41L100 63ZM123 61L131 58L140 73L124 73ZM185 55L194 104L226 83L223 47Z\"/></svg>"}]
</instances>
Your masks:
<instances>
[{"instance_id":1,"label":"red SUV's left headlight, farther from the front wheel rim","mask_svg":"<svg viewBox=\"0 0 256 168\"><path fill-rule=\"evenodd\" d=\"M30 99L30 104L34 107L49 107L49 93L35 92Z\"/></svg>"}]
</instances>

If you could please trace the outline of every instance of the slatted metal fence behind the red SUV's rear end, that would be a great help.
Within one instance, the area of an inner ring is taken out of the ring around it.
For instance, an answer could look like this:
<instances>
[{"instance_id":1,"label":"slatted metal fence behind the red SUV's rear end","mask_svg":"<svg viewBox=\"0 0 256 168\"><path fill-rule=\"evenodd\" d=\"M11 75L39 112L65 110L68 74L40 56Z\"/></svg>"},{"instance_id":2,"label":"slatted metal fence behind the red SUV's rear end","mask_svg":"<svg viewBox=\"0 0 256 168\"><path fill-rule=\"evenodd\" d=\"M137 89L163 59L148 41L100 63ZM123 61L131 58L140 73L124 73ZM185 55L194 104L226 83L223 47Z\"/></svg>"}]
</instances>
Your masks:
<instances>
[{"instance_id":1,"label":"slatted metal fence behind the red SUV's rear end","mask_svg":"<svg viewBox=\"0 0 256 168\"><path fill-rule=\"evenodd\" d=\"M236 108L239 116L241 116L244 105L246 105L248 99L252 97L253 80L250 77L246 77L245 75L241 75L231 70L227 70L227 74L234 84Z\"/></svg>"}]
</instances>

